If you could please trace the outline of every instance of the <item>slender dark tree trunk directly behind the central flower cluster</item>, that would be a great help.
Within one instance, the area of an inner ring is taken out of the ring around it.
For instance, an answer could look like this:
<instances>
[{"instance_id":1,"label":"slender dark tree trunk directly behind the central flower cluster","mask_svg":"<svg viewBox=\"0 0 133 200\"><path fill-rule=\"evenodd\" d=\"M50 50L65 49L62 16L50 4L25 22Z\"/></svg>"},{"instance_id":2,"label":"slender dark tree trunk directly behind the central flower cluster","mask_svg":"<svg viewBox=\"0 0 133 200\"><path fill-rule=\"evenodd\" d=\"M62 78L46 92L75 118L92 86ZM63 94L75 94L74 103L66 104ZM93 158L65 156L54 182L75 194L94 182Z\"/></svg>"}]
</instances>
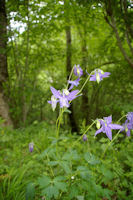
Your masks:
<instances>
[{"instance_id":1,"label":"slender dark tree trunk directly behind the central flower cluster","mask_svg":"<svg viewBox=\"0 0 133 200\"><path fill-rule=\"evenodd\" d=\"M71 66L71 28L70 26L66 26L66 69L67 69L67 80L69 78L69 74L72 70ZM74 116L74 108L73 104L70 106L69 110L71 113L69 114L70 124L72 127L72 132L78 132L78 127L76 124L75 116Z\"/></svg>"}]
</instances>

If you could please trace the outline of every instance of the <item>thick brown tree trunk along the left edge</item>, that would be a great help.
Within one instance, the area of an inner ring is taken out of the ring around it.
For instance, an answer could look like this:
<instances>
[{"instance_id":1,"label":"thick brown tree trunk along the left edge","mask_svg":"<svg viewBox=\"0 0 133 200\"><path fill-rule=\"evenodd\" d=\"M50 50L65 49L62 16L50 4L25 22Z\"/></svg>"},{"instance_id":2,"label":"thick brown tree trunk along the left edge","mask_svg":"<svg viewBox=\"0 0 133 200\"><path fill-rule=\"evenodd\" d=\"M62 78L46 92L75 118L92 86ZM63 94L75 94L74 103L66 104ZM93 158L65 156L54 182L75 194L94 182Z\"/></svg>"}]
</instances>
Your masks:
<instances>
[{"instance_id":1,"label":"thick brown tree trunk along the left edge","mask_svg":"<svg viewBox=\"0 0 133 200\"><path fill-rule=\"evenodd\" d=\"M5 125L12 126L12 120L9 115L7 97L4 93L4 87L7 86L7 18L5 0L0 0L0 117L5 120Z\"/></svg>"}]
</instances>

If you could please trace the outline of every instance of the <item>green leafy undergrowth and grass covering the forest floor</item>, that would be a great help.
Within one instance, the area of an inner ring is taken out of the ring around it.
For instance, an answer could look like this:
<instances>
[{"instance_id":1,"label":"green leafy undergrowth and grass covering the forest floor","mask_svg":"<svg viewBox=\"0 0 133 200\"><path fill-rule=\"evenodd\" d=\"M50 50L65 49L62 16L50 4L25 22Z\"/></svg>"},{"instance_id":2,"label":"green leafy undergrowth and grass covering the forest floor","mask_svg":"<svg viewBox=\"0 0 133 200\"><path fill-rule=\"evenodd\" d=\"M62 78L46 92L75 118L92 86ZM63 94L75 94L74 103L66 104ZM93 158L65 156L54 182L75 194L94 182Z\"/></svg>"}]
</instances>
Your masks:
<instances>
[{"instance_id":1,"label":"green leafy undergrowth and grass covering the forest floor","mask_svg":"<svg viewBox=\"0 0 133 200\"><path fill-rule=\"evenodd\" d=\"M0 200L133 199L132 137L121 133L102 157L109 140L94 133L75 142L80 136L63 129L57 141L47 123L1 128Z\"/></svg>"}]
</instances>

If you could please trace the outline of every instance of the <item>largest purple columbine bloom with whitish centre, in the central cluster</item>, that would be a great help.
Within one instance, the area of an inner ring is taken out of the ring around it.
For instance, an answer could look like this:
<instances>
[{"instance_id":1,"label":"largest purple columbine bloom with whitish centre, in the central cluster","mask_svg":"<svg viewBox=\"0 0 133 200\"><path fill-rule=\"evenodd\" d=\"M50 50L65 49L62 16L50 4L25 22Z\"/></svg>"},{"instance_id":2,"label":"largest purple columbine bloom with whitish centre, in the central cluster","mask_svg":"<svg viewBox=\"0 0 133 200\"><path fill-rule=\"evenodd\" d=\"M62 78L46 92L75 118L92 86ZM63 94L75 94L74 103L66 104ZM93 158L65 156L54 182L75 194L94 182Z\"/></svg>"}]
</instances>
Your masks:
<instances>
[{"instance_id":1,"label":"largest purple columbine bloom with whitish centre, in the central cluster","mask_svg":"<svg viewBox=\"0 0 133 200\"><path fill-rule=\"evenodd\" d=\"M70 106L70 101L75 99L79 90L73 90L72 92L69 92L69 90L64 89L63 92L61 93L60 91L56 90L54 87L50 87L51 92L53 93L54 97L56 98L56 101L60 103L60 108L63 107L69 107ZM48 101L48 103L51 104L51 101Z\"/></svg>"}]
</instances>

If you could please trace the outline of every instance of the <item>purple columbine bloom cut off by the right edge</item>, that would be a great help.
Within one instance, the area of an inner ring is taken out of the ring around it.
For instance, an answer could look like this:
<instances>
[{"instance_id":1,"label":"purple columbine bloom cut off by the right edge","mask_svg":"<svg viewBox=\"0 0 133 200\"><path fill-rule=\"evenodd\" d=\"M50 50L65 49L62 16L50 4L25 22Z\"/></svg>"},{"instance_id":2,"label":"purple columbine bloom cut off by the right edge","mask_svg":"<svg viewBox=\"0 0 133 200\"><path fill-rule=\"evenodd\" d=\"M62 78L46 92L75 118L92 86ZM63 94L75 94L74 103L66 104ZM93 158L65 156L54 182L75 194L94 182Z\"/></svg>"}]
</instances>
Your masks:
<instances>
[{"instance_id":1,"label":"purple columbine bloom cut off by the right edge","mask_svg":"<svg viewBox=\"0 0 133 200\"><path fill-rule=\"evenodd\" d=\"M131 135L131 130L133 130L133 112L128 112L127 119L123 124L123 128L121 131L125 131L127 137Z\"/></svg>"}]
</instances>

